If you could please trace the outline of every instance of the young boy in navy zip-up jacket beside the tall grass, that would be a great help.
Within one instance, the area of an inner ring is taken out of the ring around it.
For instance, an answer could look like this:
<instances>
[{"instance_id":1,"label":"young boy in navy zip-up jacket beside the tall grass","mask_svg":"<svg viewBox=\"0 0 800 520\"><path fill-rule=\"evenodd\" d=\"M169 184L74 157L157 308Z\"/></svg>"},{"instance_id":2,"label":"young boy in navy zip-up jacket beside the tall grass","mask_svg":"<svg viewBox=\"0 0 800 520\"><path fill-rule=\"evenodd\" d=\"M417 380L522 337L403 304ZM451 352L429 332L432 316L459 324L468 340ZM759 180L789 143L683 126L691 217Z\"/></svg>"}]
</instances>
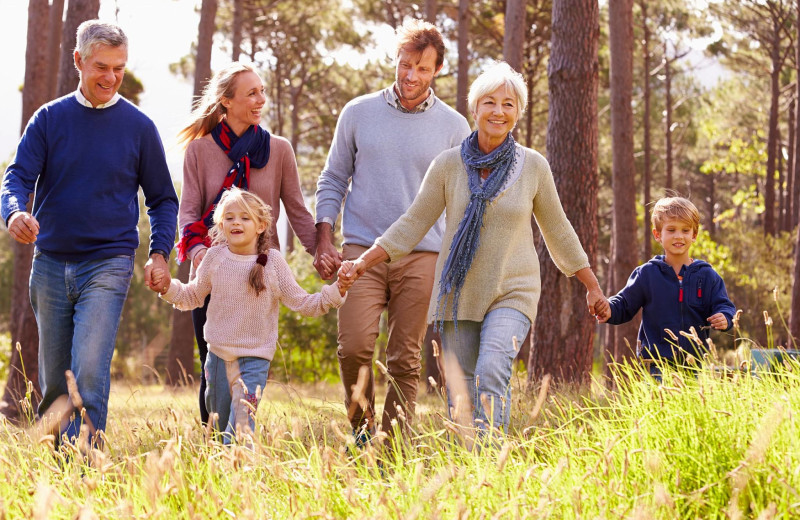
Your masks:
<instances>
[{"instance_id":1,"label":"young boy in navy zip-up jacket beside the tall grass","mask_svg":"<svg viewBox=\"0 0 800 520\"><path fill-rule=\"evenodd\" d=\"M664 254L634 269L625 288L608 300L610 317L606 314L598 321L619 325L642 309L637 355L682 365L687 354L701 358L706 352L709 329L731 328L736 307L714 268L689 256L700 227L695 205L682 197L660 199L653 207L652 223L653 236ZM702 347L680 334L690 332L690 327L697 331ZM660 372L650 365L651 374Z\"/></svg>"}]
</instances>

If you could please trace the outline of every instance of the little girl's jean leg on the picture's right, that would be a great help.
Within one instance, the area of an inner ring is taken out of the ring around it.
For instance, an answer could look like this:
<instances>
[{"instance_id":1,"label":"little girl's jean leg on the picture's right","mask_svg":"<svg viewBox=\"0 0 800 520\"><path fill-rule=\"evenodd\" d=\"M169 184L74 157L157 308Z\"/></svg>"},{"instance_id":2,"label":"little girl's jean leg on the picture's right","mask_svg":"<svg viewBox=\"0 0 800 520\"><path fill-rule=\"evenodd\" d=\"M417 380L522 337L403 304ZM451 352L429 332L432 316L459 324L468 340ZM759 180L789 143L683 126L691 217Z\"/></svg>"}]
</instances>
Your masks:
<instances>
[{"instance_id":1,"label":"little girl's jean leg on the picture's right","mask_svg":"<svg viewBox=\"0 0 800 520\"><path fill-rule=\"evenodd\" d=\"M226 361L230 388L231 415L225 429L225 443L236 438L237 432L256 431L256 411L269 375L269 361L257 357L240 357Z\"/></svg>"}]
</instances>

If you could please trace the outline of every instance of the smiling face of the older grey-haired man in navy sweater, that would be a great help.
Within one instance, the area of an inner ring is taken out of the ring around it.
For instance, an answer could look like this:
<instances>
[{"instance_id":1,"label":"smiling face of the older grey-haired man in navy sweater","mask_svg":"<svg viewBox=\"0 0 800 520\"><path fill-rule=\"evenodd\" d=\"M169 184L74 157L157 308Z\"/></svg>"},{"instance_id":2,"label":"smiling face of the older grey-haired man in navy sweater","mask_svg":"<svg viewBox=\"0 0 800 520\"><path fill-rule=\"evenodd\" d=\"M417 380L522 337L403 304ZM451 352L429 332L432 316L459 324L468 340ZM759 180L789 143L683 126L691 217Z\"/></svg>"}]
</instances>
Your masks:
<instances>
[{"instance_id":1,"label":"smiling face of the older grey-haired man in navy sweater","mask_svg":"<svg viewBox=\"0 0 800 520\"><path fill-rule=\"evenodd\" d=\"M86 59L75 52L81 93L93 107L108 103L117 93L122 85L127 61L128 48L125 46L111 47L98 43Z\"/></svg>"}]
</instances>

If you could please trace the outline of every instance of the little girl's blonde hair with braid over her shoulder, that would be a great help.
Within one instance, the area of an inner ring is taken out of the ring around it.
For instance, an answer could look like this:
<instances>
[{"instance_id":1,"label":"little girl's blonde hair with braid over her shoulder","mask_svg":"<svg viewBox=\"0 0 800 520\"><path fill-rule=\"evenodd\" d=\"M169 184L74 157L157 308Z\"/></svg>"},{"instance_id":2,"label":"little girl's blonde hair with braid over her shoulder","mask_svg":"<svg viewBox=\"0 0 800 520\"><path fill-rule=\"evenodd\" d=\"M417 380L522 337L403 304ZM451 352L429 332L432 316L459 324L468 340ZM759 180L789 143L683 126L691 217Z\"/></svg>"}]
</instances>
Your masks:
<instances>
[{"instance_id":1,"label":"little girl's blonde hair with braid over her shoulder","mask_svg":"<svg viewBox=\"0 0 800 520\"><path fill-rule=\"evenodd\" d=\"M243 208L250 218L257 224L264 225L264 231L258 235L258 243L256 245L256 254L268 254L269 252L269 239L272 234L272 208L269 204L261 200L261 197L254 195L249 191L244 191L237 187L232 187L222 194L219 199L217 207L214 209L214 227L208 231L208 236L214 245L225 243L225 234L222 232L222 219L225 211L231 204L238 204ZM256 296L261 294L261 291L267 288L264 277L264 265L256 261L250 269L248 276L248 283L250 287L255 289Z\"/></svg>"}]
</instances>

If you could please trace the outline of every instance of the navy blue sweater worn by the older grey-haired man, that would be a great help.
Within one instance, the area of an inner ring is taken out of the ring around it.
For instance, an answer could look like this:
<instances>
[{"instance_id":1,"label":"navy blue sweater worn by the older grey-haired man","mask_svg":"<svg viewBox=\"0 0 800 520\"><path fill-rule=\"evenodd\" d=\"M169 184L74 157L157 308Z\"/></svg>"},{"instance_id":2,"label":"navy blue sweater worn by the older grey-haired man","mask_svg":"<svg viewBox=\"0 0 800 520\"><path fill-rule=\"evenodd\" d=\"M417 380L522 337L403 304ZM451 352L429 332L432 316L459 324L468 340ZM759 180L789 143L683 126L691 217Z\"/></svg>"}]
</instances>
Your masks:
<instances>
[{"instance_id":1,"label":"navy blue sweater worn by the older grey-haired man","mask_svg":"<svg viewBox=\"0 0 800 520\"><path fill-rule=\"evenodd\" d=\"M133 254L139 245L138 190L152 233L150 250L175 241L178 198L153 122L124 98L104 109L69 94L31 118L6 169L0 210L7 223L36 191L36 246L61 260Z\"/></svg>"}]
</instances>

